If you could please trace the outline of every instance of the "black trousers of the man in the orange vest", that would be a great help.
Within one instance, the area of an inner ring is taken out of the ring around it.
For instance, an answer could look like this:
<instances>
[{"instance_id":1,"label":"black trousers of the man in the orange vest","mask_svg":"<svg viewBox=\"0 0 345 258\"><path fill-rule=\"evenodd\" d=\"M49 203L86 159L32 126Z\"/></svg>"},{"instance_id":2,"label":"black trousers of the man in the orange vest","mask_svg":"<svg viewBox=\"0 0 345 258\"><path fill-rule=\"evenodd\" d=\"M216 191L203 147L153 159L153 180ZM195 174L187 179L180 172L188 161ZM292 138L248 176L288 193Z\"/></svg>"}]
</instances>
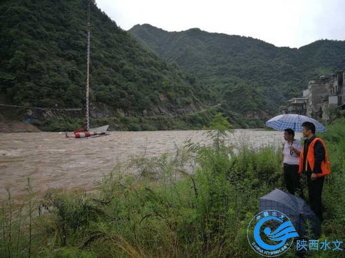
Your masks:
<instances>
[{"instance_id":1,"label":"black trousers of the man in the orange vest","mask_svg":"<svg viewBox=\"0 0 345 258\"><path fill-rule=\"evenodd\" d=\"M309 204L311 210L319 217L322 221L322 206L321 206L321 195L322 187L324 186L324 177L311 180L311 176L307 176L308 193L309 193Z\"/></svg>"}]
</instances>

